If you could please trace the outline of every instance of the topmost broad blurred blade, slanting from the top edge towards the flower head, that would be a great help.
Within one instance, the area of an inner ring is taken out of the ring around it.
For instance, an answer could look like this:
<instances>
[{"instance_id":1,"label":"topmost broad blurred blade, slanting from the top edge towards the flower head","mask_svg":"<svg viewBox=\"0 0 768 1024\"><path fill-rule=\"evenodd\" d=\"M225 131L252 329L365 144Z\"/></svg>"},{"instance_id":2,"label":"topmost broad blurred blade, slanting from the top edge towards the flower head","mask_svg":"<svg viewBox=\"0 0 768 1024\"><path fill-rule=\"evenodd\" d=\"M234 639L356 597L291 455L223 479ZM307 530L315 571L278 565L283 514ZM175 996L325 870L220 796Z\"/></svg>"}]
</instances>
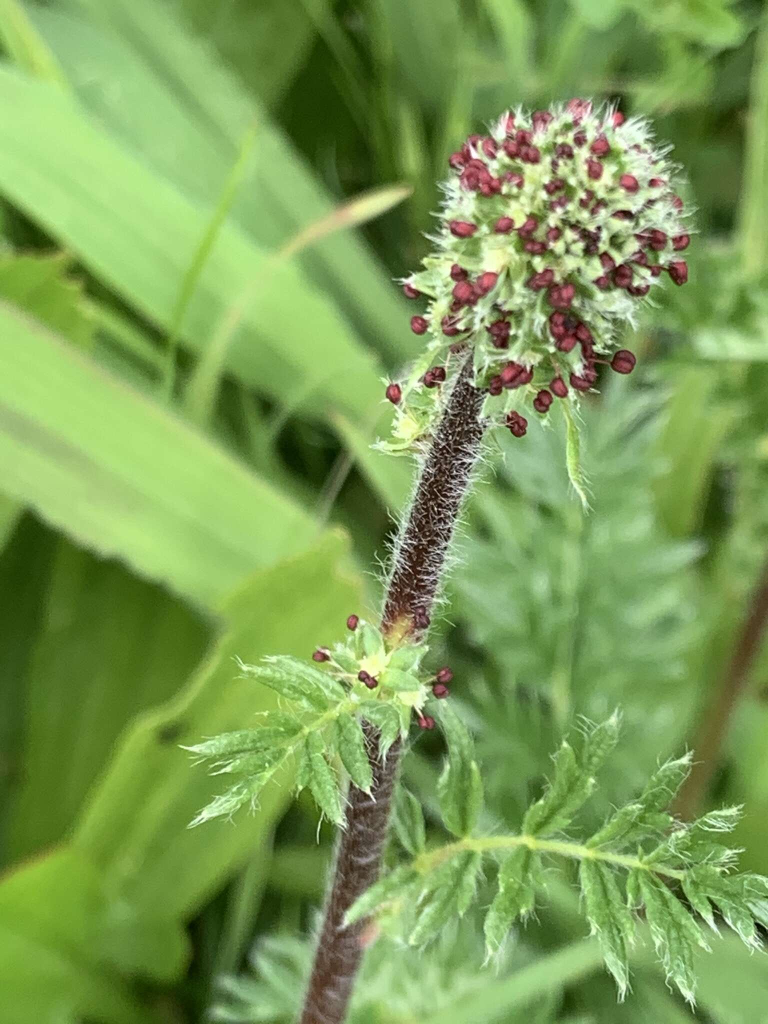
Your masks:
<instances>
[{"instance_id":1,"label":"topmost broad blurred blade, slanting from the top edge towards the flower head","mask_svg":"<svg viewBox=\"0 0 768 1024\"><path fill-rule=\"evenodd\" d=\"M68 5L88 22L35 10L41 33L83 103L169 181L214 204L255 118L260 159L234 204L237 223L278 250L332 213L339 200L325 191L303 155L214 59L207 39L190 34L167 6L154 0ZM348 231L329 234L304 250L299 262L378 348L410 357L406 303L361 239Z\"/></svg>"}]
</instances>

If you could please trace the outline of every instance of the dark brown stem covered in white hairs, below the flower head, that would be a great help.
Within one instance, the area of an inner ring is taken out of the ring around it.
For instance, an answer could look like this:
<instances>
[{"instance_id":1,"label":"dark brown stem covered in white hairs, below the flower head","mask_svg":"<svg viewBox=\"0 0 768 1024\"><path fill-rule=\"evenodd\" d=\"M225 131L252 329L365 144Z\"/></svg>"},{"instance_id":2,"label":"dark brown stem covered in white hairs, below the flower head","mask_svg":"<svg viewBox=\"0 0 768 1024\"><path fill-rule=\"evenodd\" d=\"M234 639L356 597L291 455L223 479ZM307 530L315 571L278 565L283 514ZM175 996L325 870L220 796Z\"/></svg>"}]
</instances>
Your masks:
<instances>
[{"instance_id":1,"label":"dark brown stem covered in white hairs, below the flower head","mask_svg":"<svg viewBox=\"0 0 768 1024\"><path fill-rule=\"evenodd\" d=\"M395 548L381 623L391 639L416 639L428 625L480 450L483 398L472 384L470 354L449 396ZM300 1024L344 1021L365 949L367 922L344 928L344 915L379 877L401 749L395 743L382 760L376 729L369 723L364 728L373 787L369 795L349 786L345 828Z\"/></svg>"}]
</instances>

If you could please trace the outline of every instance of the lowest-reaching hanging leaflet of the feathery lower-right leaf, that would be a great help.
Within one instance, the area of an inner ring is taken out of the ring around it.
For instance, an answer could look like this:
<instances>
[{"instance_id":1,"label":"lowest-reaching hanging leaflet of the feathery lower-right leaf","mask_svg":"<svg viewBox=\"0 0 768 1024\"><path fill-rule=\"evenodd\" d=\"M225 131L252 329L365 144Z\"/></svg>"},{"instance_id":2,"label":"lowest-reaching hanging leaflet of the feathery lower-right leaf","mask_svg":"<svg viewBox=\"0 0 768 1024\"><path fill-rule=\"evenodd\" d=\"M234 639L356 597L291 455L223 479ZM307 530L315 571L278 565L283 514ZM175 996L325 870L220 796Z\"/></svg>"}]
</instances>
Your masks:
<instances>
[{"instance_id":1,"label":"lowest-reaching hanging leaflet of the feathery lower-right leaf","mask_svg":"<svg viewBox=\"0 0 768 1024\"><path fill-rule=\"evenodd\" d=\"M683 997L692 1004L696 986L694 950L696 946L709 950L709 946L693 918L664 882L649 871L633 873L667 980L674 982Z\"/></svg>"}]
</instances>

